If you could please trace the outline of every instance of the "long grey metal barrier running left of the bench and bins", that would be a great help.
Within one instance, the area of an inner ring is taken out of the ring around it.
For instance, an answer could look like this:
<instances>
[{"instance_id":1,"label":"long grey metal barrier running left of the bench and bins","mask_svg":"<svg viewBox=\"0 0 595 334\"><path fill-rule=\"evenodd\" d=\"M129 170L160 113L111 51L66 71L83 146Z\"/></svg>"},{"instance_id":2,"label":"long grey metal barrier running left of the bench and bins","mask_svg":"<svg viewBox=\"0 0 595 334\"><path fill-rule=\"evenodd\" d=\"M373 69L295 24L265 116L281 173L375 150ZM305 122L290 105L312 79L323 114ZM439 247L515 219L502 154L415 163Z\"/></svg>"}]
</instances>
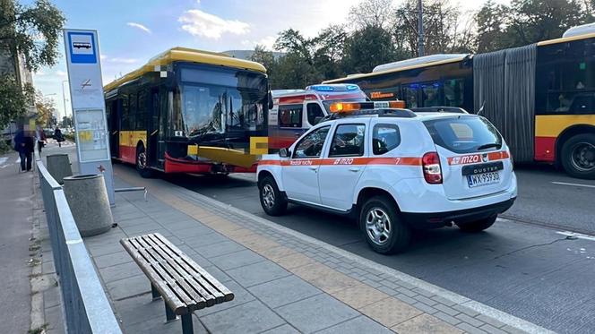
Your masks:
<instances>
[{"instance_id":1,"label":"long grey metal barrier running left of the bench and bins","mask_svg":"<svg viewBox=\"0 0 595 334\"><path fill-rule=\"evenodd\" d=\"M121 334L62 186L36 160L67 333Z\"/></svg>"}]
</instances>

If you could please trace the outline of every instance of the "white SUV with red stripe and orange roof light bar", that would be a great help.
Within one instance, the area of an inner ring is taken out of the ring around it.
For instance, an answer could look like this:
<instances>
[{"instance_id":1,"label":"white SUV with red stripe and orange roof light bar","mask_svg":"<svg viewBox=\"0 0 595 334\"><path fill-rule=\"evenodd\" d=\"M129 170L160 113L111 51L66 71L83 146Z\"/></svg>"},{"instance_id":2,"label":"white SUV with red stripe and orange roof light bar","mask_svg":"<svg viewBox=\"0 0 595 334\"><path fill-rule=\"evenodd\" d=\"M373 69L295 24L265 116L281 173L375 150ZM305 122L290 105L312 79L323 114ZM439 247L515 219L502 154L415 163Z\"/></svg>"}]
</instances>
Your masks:
<instances>
[{"instance_id":1,"label":"white SUV with red stripe and orange roof light bar","mask_svg":"<svg viewBox=\"0 0 595 334\"><path fill-rule=\"evenodd\" d=\"M486 118L465 112L327 116L289 149L264 156L257 173L267 214L282 214L288 202L353 214L378 253L403 250L411 228L454 223L482 231L517 195L502 136Z\"/></svg>"}]
</instances>

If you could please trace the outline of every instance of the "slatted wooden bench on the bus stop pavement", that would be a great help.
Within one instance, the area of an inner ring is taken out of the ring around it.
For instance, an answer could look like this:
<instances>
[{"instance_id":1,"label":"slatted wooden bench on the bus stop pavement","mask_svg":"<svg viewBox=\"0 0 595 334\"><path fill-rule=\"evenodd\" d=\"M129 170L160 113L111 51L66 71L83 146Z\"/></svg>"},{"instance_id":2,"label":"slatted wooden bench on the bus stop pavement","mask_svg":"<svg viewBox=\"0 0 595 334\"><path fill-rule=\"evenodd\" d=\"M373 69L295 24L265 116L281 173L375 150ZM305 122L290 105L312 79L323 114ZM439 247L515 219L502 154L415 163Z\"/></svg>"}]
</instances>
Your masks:
<instances>
[{"instance_id":1,"label":"slatted wooden bench on the bus stop pavement","mask_svg":"<svg viewBox=\"0 0 595 334\"><path fill-rule=\"evenodd\" d=\"M165 302L167 321L182 317L182 332L193 333L192 313L229 302L234 294L159 233L120 240L151 281L153 300Z\"/></svg>"}]
</instances>

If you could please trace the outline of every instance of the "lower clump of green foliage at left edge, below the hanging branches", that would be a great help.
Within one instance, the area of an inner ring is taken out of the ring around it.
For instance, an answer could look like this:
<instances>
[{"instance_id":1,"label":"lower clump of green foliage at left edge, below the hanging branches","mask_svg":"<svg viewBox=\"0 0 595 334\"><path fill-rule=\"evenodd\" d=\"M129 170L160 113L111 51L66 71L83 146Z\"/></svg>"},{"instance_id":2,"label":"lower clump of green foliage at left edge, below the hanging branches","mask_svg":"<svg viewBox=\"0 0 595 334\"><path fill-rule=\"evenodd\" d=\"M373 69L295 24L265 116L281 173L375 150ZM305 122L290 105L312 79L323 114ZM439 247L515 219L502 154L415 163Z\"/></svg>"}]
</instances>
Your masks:
<instances>
[{"instance_id":1,"label":"lower clump of green foliage at left edge, below the hanging branches","mask_svg":"<svg viewBox=\"0 0 595 334\"><path fill-rule=\"evenodd\" d=\"M33 105L35 90L29 83L21 86L13 75L0 76L0 129L12 120L26 115Z\"/></svg>"}]
</instances>

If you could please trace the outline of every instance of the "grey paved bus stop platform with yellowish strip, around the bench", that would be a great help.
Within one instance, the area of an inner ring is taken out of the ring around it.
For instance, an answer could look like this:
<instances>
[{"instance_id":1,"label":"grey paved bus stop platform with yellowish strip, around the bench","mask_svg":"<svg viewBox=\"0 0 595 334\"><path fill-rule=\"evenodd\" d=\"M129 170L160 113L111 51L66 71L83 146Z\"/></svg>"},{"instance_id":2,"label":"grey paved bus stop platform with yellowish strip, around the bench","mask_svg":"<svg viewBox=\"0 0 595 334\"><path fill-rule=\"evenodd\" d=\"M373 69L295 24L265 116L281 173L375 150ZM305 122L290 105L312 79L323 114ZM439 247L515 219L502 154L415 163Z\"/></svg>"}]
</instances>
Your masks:
<instances>
[{"instance_id":1,"label":"grey paved bus stop platform with yellowish strip, around the bench","mask_svg":"<svg viewBox=\"0 0 595 334\"><path fill-rule=\"evenodd\" d=\"M119 240L159 232L220 279L234 301L194 313L196 333L548 332L461 295L278 227L160 179L116 167L117 228L85 238L127 333L179 333ZM483 307L483 308L482 308ZM495 319L495 317L498 320Z\"/></svg>"}]
</instances>

